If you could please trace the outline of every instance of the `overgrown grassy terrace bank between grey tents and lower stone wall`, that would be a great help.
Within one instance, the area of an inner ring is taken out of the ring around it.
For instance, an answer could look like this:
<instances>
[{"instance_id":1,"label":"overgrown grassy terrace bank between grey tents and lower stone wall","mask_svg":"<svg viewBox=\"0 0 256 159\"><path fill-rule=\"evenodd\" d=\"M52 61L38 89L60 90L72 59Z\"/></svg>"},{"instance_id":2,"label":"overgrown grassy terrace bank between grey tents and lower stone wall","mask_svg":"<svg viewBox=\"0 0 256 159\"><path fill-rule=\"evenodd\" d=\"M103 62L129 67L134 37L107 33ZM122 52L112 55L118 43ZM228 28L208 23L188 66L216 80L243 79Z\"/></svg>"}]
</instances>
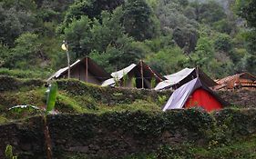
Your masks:
<instances>
[{"instance_id":1,"label":"overgrown grassy terrace bank between grey tents and lower stone wall","mask_svg":"<svg viewBox=\"0 0 256 159\"><path fill-rule=\"evenodd\" d=\"M13 114L8 108L18 104L46 105L46 82L0 76L0 123L31 114ZM59 80L56 111L72 114L102 114L122 111L160 111L170 92L100 87L77 80Z\"/></svg>"}]
</instances>

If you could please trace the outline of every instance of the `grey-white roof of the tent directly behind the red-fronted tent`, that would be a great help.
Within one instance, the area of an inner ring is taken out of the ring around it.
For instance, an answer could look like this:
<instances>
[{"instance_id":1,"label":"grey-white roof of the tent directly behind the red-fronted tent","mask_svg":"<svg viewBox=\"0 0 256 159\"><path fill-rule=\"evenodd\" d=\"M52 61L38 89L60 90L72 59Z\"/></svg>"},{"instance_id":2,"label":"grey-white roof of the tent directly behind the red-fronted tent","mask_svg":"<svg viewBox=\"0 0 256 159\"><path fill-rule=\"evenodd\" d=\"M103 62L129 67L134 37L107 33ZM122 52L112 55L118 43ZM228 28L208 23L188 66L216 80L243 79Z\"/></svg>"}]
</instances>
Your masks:
<instances>
[{"instance_id":1,"label":"grey-white roof of the tent directly behind the red-fronted tent","mask_svg":"<svg viewBox=\"0 0 256 159\"><path fill-rule=\"evenodd\" d=\"M155 90L169 89L173 86L179 87L182 84L189 82L191 79L196 78L198 75L200 79L208 86L214 86L216 83L206 75L200 68L184 68L179 72L172 75L165 75L167 80L160 82L155 87Z\"/></svg>"}]
</instances>

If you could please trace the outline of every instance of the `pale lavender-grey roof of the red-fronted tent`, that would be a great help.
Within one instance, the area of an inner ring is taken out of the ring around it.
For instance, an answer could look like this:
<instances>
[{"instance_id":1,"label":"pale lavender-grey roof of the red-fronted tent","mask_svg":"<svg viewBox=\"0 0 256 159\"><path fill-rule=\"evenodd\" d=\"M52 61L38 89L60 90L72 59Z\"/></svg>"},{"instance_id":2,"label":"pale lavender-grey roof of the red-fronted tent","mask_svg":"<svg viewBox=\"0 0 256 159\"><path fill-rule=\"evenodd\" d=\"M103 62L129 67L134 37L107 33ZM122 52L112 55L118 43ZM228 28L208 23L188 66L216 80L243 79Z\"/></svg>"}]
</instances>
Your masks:
<instances>
[{"instance_id":1,"label":"pale lavender-grey roof of the red-fronted tent","mask_svg":"<svg viewBox=\"0 0 256 159\"><path fill-rule=\"evenodd\" d=\"M186 104L189 95L200 87L212 94L220 102L220 104L227 105L227 103L223 99L221 99L219 95L212 92L209 87L203 84L200 81L200 78L195 78L189 81L189 83L183 84L177 90L175 90L173 94L171 94L167 104L165 104L163 108L163 111L169 109L181 109L184 104Z\"/></svg>"}]
</instances>

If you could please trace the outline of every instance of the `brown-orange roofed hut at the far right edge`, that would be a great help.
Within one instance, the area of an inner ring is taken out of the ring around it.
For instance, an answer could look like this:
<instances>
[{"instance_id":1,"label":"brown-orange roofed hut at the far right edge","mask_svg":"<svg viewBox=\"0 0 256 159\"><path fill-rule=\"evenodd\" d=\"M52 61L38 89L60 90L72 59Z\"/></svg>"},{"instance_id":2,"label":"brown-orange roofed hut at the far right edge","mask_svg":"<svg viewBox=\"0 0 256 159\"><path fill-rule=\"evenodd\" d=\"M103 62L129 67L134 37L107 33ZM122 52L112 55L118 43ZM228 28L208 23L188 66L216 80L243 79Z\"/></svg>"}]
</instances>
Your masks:
<instances>
[{"instance_id":1,"label":"brown-orange roofed hut at the far right edge","mask_svg":"<svg viewBox=\"0 0 256 159\"><path fill-rule=\"evenodd\" d=\"M216 90L233 90L233 89L256 89L256 76L250 73L241 73L230 75L220 80L216 80Z\"/></svg>"}]
</instances>

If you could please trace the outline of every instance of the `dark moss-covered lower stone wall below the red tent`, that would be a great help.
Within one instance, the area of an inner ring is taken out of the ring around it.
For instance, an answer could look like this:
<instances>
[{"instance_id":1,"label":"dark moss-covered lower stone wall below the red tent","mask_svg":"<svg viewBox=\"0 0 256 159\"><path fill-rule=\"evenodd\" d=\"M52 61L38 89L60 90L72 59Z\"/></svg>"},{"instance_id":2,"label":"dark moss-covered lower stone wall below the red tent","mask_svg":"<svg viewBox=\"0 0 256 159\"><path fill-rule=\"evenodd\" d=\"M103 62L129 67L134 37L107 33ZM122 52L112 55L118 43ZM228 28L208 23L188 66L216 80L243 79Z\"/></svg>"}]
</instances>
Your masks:
<instances>
[{"instance_id":1,"label":"dark moss-covered lower stone wall below the red tent","mask_svg":"<svg viewBox=\"0 0 256 159\"><path fill-rule=\"evenodd\" d=\"M256 111L251 109L227 109L214 114L189 109L167 113L57 114L47 116L47 121L56 158L73 153L82 153L89 158L111 158L161 151L186 158L194 157L195 153L203 154L202 150L213 152L216 157L218 153L214 151L221 146L229 147L236 141L256 135L255 114ZM5 124L0 126L0 143L14 145L15 152L23 156L43 157L45 139L42 130L41 117L30 118L22 124ZM220 137L230 138L230 141L221 143ZM189 149L182 151L180 147ZM0 157L4 148L5 145L0 146ZM203 156L209 157L208 153ZM235 153L223 155L233 156Z\"/></svg>"}]
</instances>

